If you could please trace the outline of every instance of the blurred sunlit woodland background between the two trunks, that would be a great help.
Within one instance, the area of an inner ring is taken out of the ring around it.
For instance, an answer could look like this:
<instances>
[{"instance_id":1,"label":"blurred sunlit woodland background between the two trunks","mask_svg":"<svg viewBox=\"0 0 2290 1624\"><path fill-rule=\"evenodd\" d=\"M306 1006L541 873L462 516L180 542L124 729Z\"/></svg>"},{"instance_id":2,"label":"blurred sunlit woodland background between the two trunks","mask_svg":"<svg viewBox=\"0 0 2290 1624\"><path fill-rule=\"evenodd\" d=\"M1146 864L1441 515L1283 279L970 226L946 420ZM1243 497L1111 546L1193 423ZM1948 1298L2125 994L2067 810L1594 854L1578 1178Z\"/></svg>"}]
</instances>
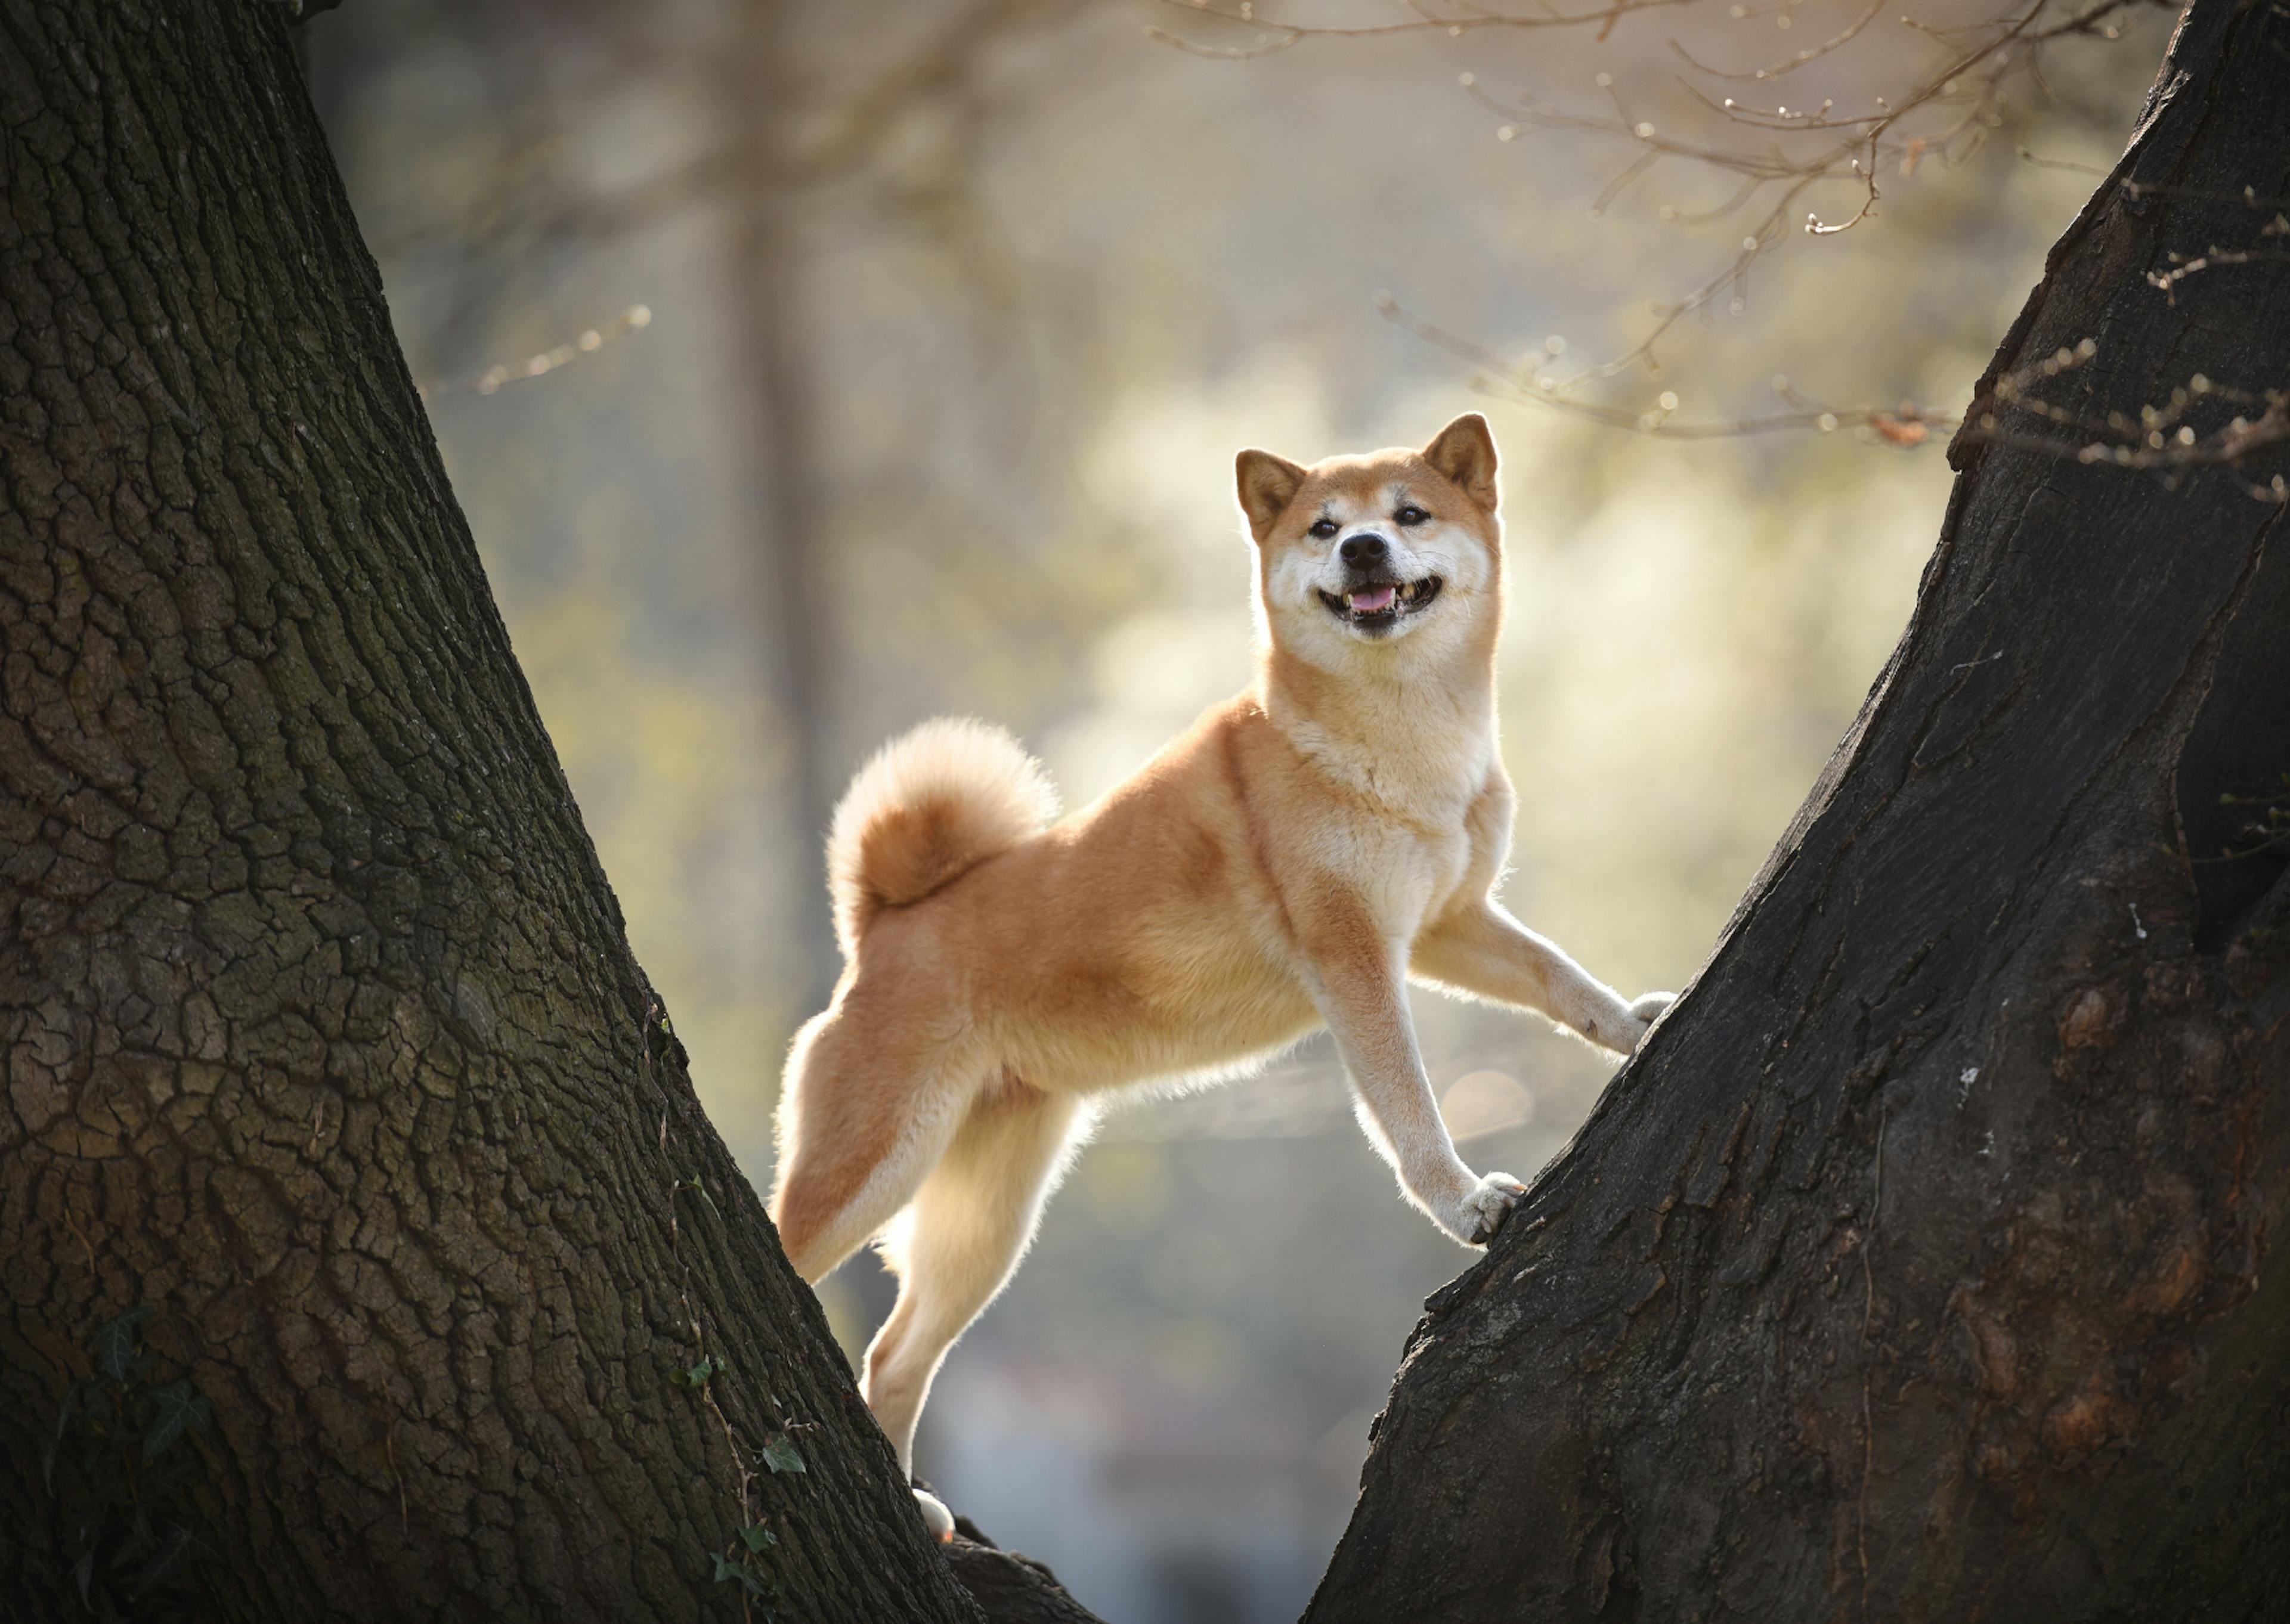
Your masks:
<instances>
[{"instance_id":1,"label":"blurred sunlit woodland background between the two trunks","mask_svg":"<svg viewBox=\"0 0 2290 1624\"><path fill-rule=\"evenodd\" d=\"M1530 371L1626 350L1740 252L1743 215L1674 218L1729 179L1663 165L1594 215L1628 144L1488 101L1612 112L1608 71L1630 117L1669 119L1681 30L1747 71L1859 16L1701 0L1605 44L1424 30L1250 60L1150 32L1227 50L1248 27L1113 0L348 0L302 30L518 655L758 1187L788 1035L834 973L840 783L973 712L1079 806L1246 683L1243 444L1310 460L1488 410L1507 900L1624 992L1692 978L1910 612L1944 433L1605 428L1477 389L1379 293ZM1976 151L1887 165L1839 236L1791 222L1738 312L1729 291L1660 376L1589 396L1711 421L1775 405L1779 373L1958 410L2166 21L2066 41ZM1756 94L1866 101L1951 48L1887 14ZM1418 1019L1482 1170L1541 1168L1610 1070L1534 1019L1431 994ZM1466 1262L1399 1203L1324 1040L1138 1102L955 1349L918 1466L1115 1624L1289 1619L1422 1299ZM863 1258L822 1296L856 1354L886 1280Z\"/></svg>"}]
</instances>

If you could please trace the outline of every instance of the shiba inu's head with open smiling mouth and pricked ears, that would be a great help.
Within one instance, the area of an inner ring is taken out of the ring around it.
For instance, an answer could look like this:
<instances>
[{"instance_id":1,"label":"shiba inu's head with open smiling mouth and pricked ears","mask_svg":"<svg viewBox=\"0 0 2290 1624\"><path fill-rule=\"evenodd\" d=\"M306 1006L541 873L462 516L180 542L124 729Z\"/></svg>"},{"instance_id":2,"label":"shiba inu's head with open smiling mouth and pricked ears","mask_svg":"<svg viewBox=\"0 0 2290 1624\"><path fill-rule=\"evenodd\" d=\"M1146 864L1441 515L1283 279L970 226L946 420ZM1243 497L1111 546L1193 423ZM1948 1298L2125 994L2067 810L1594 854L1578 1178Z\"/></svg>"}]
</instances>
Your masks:
<instances>
[{"instance_id":1,"label":"shiba inu's head with open smiling mouth and pricked ears","mask_svg":"<svg viewBox=\"0 0 2290 1624\"><path fill-rule=\"evenodd\" d=\"M1337 669L1365 644L1491 641L1502 527L1484 417L1456 417L1422 451L1312 467L1241 451L1237 472L1276 648Z\"/></svg>"}]
</instances>

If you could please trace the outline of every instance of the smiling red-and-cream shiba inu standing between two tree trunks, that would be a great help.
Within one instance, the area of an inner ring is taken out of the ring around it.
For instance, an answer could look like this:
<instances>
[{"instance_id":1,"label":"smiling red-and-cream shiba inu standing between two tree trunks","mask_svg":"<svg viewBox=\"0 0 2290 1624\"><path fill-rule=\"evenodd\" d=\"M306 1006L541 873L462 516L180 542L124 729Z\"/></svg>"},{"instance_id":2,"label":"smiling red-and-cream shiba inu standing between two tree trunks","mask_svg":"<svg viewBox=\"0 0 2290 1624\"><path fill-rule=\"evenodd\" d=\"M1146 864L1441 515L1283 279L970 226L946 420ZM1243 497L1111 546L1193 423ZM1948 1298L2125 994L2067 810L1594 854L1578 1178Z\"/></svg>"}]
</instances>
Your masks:
<instances>
[{"instance_id":1,"label":"smiling red-and-cream shiba inu standing between two tree trunks","mask_svg":"<svg viewBox=\"0 0 2290 1624\"><path fill-rule=\"evenodd\" d=\"M1042 767L978 722L893 742L836 811L845 971L788 1056L772 1219L806 1280L882 1237L900 1290L866 1402L900 1471L939 1361L1106 1095L1239 1077L1326 1026L1406 1196L1482 1246L1525 1191L1447 1138L1408 978L1614 1051L1669 1003L1621 999L1491 896L1514 797L1486 419L1312 467L1241 451L1237 474L1248 692L1065 820Z\"/></svg>"}]
</instances>

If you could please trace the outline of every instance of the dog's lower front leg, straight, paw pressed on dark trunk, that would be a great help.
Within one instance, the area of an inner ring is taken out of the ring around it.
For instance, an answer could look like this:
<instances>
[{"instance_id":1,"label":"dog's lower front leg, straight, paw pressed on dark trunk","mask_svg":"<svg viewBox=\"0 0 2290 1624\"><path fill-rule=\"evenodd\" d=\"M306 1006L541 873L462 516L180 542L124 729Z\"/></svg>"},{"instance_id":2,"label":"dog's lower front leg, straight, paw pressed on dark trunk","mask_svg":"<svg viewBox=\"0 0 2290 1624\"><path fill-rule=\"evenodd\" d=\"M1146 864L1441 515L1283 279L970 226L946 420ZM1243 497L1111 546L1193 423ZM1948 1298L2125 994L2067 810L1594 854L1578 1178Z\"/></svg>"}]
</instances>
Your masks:
<instances>
[{"instance_id":1,"label":"dog's lower front leg, straight, paw pressed on dark trunk","mask_svg":"<svg viewBox=\"0 0 2290 1624\"><path fill-rule=\"evenodd\" d=\"M1351 1072L1367 1143L1434 1223L1466 1246L1484 1246L1527 1191L1509 1173L1479 1177L1447 1138L1415 1047L1406 946L1376 930L1365 905L1349 898L1314 914L1303 944L1312 996Z\"/></svg>"}]
</instances>

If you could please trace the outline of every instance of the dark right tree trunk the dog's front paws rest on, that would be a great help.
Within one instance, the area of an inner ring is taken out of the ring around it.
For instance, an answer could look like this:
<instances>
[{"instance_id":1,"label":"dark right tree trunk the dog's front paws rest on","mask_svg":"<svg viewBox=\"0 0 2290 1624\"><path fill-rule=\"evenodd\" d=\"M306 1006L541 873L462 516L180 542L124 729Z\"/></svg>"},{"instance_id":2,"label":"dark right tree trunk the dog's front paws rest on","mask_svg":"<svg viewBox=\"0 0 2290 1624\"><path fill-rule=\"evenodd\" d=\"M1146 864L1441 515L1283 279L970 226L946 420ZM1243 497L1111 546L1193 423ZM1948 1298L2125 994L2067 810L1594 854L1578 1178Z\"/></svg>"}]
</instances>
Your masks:
<instances>
[{"instance_id":1,"label":"dark right tree trunk the dog's front paws rest on","mask_svg":"<svg viewBox=\"0 0 2290 1624\"><path fill-rule=\"evenodd\" d=\"M2290 387L2285 131L2290 16L2194 0L1990 378ZM2210 245L2263 254L2148 284ZM2290 1617L2290 882L2217 859L2290 770L2290 520L1999 426L2070 456L1951 451L1795 827L1427 1306L1310 1624Z\"/></svg>"}]
</instances>

